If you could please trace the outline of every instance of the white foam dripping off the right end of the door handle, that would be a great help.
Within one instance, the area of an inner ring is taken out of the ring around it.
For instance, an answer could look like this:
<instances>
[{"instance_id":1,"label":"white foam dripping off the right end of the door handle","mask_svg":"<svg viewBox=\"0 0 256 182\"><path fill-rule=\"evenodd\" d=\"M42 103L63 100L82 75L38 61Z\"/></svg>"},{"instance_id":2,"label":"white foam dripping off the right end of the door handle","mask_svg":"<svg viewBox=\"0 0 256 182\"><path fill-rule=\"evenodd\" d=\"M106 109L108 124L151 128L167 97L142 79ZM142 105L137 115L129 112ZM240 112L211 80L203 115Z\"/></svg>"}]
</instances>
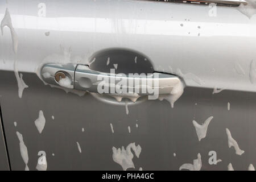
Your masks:
<instances>
[{"instance_id":1,"label":"white foam dripping off the right end of the door handle","mask_svg":"<svg viewBox=\"0 0 256 182\"><path fill-rule=\"evenodd\" d=\"M158 99L160 101L167 100L171 107L174 107L174 103L180 98L180 96L183 94L184 85L181 81L177 83L177 85L174 86L170 94L162 94L159 95Z\"/></svg>"}]
</instances>

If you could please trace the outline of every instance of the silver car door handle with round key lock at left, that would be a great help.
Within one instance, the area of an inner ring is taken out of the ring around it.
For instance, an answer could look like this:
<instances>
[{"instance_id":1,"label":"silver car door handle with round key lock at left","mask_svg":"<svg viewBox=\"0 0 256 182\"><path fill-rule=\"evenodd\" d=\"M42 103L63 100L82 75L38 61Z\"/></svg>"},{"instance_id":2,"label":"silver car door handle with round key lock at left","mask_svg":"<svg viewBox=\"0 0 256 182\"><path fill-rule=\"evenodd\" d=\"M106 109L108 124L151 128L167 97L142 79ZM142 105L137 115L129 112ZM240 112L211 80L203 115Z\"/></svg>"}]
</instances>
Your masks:
<instances>
[{"instance_id":1,"label":"silver car door handle with round key lock at left","mask_svg":"<svg viewBox=\"0 0 256 182\"><path fill-rule=\"evenodd\" d=\"M93 93L102 94L103 91L104 94L121 96L154 95L152 90L158 90L158 94L170 94L181 82L179 77L166 73L155 72L147 75L102 73L90 69L88 65L75 64L46 64L41 69L41 76L48 84Z\"/></svg>"}]
</instances>

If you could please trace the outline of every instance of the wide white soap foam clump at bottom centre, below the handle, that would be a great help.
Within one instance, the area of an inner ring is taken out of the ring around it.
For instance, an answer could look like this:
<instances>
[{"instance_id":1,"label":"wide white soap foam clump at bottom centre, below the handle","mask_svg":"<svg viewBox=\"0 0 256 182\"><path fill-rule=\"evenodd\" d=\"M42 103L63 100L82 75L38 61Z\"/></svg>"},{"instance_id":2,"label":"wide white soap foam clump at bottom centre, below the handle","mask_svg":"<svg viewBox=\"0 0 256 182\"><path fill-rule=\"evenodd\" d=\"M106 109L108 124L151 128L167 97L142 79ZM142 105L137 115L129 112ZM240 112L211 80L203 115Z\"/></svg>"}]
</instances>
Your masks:
<instances>
[{"instance_id":1,"label":"wide white soap foam clump at bottom centre, below the handle","mask_svg":"<svg viewBox=\"0 0 256 182\"><path fill-rule=\"evenodd\" d=\"M138 146L135 146L135 143L130 143L126 149L123 146L121 148L112 147L112 158L114 162L122 166L123 171L126 171L128 168L135 168L133 163L134 155L131 152L131 149L133 149L135 155L139 158L139 155L141 154L141 146L139 146L139 144Z\"/></svg>"}]
</instances>

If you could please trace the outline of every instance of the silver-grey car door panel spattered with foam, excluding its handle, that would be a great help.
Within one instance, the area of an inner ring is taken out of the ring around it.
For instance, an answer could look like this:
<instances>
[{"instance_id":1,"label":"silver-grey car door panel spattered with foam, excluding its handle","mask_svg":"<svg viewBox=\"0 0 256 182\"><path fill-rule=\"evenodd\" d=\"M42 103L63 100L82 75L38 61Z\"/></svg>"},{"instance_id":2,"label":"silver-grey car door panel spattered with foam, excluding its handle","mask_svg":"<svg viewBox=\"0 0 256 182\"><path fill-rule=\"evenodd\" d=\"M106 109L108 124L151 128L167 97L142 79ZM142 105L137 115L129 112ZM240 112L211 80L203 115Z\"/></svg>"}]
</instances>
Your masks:
<instances>
[{"instance_id":1,"label":"silver-grey car door panel spattered with foam, excluding its handle","mask_svg":"<svg viewBox=\"0 0 256 182\"><path fill-rule=\"evenodd\" d=\"M243 3L1 1L10 168L253 169L256 31L245 11L253 6ZM47 64L75 75L77 65L158 72L182 86L175 98L121 94L120 101L67 82L50 85L42 75Z\"/></svg>"}]
</instances>

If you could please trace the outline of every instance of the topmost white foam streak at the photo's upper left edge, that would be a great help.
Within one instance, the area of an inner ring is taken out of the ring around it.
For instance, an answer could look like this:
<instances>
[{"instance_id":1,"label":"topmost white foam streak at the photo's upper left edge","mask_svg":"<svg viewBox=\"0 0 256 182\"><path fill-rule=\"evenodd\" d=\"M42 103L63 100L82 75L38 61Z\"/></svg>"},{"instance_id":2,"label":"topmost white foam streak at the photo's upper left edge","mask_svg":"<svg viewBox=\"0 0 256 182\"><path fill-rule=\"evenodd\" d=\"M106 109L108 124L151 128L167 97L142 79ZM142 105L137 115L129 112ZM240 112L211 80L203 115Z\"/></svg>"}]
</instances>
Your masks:
<instances>
[{"instance_id":1,"label":"topmost white foam streak at the photo's upper left edge","mask_svg":"<svg viewBox=\"0 0 256 182\"><path fill-rule=\"evenodd\" d=\"M1 22L2 35L3 35L3 27L5 26L10 28L11 38L13 39L13 51L16 54L18 52L18 35L16 34L13 28L13 23L11 22L11 16L8 9L5 10L5 16L3 17L3 20Z\"/></svg>"}]
</instances>

